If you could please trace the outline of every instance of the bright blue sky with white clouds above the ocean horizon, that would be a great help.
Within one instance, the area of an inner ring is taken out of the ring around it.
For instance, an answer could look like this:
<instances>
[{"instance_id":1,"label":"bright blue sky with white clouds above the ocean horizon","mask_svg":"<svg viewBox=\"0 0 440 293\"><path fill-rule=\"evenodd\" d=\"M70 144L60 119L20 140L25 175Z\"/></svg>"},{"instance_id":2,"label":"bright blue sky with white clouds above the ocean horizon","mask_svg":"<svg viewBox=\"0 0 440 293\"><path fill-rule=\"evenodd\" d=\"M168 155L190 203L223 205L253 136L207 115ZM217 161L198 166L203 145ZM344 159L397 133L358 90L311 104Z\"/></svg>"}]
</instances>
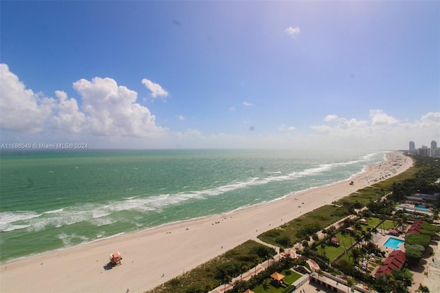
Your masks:
<instances>
[{"instance_id":1,"label":"bright blue sky with white clouds above the ocean horizon","mask_svg":"<svg viewBox=\"0 0 440 293\"><path fill-rule=\"evenodd\" d=\"M439 1L1 1L1 143L440 140Z\"/></svg>"}]
</instances>

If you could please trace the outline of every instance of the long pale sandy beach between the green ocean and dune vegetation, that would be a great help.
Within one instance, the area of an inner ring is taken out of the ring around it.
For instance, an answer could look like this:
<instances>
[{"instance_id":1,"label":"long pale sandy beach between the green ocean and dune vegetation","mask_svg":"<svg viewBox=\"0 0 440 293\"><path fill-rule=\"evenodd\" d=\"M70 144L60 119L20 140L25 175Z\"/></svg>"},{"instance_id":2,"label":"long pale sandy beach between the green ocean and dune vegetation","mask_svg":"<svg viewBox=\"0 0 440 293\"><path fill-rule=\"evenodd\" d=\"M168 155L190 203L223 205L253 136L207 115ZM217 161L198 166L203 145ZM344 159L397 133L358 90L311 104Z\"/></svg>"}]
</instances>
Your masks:
<instances>
[{"instance_id":1,"label":"long pale sandy beach between the green ocean and dune vegetation","mask_svg":"<svg viewBox=\"0 0 440 293\"><path fill-rule=\"evenodd\" d=\"M150 290L248 239L254 239L265 230L412 166L412 160L400 152L387 156L386 162L369 166L364 173L354 177L353 185L346 180L228 215L170 224L4 263L0 268L0 292L122 293L127 289L129 292ZM123 257L122 265L104 270L109 254L118 251Z\"/></svg>"}]
</instances>

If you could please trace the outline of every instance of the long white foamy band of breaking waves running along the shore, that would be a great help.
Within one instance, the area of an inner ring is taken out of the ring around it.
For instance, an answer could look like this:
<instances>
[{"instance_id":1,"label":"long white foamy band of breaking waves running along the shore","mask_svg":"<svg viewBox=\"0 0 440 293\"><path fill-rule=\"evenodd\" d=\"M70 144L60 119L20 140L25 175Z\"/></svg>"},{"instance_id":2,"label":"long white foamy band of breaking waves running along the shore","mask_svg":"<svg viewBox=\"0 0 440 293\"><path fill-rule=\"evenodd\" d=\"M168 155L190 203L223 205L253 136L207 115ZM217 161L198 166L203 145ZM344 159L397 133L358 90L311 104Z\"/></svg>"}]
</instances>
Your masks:
<instances>
[{"instance_id":1,"label":"long white foamy band of breaking waves running along the shore","mask_svg":"<svg viewBox=\"0 0 440 293\"><path fill-rule=\"evenodd\" d=\"M47 226L54 226L56 228L71 226L82 221L88 221L99 227L113 224L118 221L118 217L120 217L118 215L120 212L131 210L140 213L161 213L161 211L168 206L182 204L188 200L203 200L208 197L224 195L225 193L239 191L240 189L249 188L250 186L270 184L271 182L298 180L298 178L303 177L310 177L310 180L314 180L314 182L318 182L319 184L320 181L312 176L325 174L329 171L333 171L333 169L347 165L362 163L369 164L369 162L375 159L377 160L377 155L380 154L382 154L382 152L369 153L358 160L320 164L303 171L294 171L287 174L283 174L281 171L273 171L267 173L267 177L250 177L248 180L232 181L228 184L212 186L199 191L181 191L174 194L167 193L153 196L133 195L100 204L78 204L77 206L48 210L43 213L30 211L3 212L0 213L0 230L3 232L10 232L12 230L26 228L30 231L36 231L42 230ZM356 172L359 172L359 170ZM185 189L188 189L188 187L189 186L185 186Z\"/></svg>"}]
</instances>

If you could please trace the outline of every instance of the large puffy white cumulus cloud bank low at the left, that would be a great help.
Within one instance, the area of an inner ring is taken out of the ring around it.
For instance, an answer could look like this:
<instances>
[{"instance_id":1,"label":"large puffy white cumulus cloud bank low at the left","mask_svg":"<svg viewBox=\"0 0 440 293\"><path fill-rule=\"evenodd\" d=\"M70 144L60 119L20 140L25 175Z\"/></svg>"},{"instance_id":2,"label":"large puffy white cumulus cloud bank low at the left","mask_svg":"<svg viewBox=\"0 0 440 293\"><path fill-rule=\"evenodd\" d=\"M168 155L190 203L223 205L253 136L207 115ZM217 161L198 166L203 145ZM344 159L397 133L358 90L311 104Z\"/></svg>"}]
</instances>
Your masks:
<instances>
[{"instance_id":1,"label":"large puffy white cumulus cloud bank low at the left","mask_svg":"<svg viewBox=\"0 0 440 293\"><path fill-rule=\"evenodd\" d=\"M168 130L157 127L155 116L136 102L135 91L111 78L78 80L73 84L78 100L68 98L65 91L55 91L56 98L34 94L5 64L0 64L0 78L0 128L4 131L157 138Z\"/></svg>"}]
</instances>

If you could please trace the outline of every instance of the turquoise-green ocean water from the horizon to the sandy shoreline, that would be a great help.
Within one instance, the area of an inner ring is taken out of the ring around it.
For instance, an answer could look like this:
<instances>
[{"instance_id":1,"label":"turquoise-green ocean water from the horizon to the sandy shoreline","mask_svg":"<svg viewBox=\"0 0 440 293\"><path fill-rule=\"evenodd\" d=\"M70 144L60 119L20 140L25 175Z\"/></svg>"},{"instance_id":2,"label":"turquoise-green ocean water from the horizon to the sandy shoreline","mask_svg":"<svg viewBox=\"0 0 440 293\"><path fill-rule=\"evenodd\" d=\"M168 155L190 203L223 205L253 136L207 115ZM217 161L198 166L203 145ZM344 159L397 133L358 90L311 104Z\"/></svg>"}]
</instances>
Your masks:
<instances>
[{"instance_id":1,"label":"turquoise-green ocean water from the horizon to the sandy shoreline","mask_svg":"<svg viewBox=\"0 0 440 293\"><path fill-rule=\"evenodd\" d=\"M272 202L347 180L384 151L0 153L0 261Z\"/></svg>"}]
</instances>

